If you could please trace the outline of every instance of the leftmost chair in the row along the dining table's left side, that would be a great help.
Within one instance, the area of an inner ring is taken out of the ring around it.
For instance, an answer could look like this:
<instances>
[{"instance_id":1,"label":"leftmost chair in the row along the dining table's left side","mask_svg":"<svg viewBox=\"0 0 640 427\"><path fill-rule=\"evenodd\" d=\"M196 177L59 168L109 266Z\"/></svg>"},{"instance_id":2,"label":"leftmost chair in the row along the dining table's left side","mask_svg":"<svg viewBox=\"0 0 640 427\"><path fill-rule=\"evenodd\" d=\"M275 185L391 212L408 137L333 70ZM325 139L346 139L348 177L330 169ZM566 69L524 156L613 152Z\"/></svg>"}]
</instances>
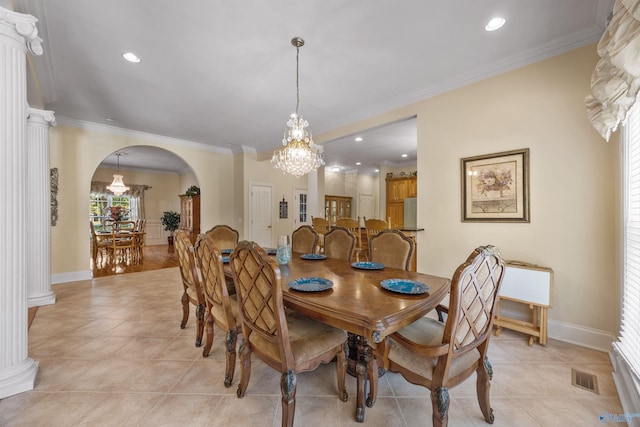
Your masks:
<instances>
[{"instance_id":1,"label":"leftmost chair in the row along the dining table's left side","mask_svg":"<svg viewBox=\"0 0 640 427\"><path fill-rule=\"evenodd\" d=\"M200 278L196 268L193 245L189 235L184 230L178 230L174 234L174 246L178 253L180 265L180 276L182 277L182 321L180 328L184 329L189 320L189 304L196 307L196 347L202 345L202 335L204 331L204 310L206 302L200 285Z\"/></svg>"}]
</instances>

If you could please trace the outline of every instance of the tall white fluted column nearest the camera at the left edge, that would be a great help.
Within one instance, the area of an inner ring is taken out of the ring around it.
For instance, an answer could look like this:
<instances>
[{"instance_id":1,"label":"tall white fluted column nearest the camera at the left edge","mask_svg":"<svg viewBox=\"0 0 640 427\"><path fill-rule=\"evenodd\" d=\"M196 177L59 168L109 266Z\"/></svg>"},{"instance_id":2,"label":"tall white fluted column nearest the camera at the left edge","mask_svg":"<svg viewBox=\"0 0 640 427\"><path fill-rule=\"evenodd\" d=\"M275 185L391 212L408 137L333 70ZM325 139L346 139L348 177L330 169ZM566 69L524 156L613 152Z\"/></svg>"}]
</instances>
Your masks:
<instances>
[{"instance_id":1,"label":"tall white fluted column nearest the camera at the left edge","mask_svg":"<svg viewBox=\"0 0 640 427\"><path fill-rule=\"evenodd\" d=\"M42 54L30 15L0 8L0 399L32 390L27 357L26 54Z\"/></svg>"}]
</instances>

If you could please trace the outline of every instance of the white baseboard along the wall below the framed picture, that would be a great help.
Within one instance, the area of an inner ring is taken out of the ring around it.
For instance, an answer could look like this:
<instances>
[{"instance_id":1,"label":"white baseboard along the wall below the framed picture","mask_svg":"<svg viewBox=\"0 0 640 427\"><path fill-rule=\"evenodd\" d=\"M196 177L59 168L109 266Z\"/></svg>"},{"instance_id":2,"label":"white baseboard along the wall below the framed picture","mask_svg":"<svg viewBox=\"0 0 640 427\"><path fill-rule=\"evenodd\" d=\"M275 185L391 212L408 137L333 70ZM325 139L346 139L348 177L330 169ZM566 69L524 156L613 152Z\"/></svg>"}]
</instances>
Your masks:
<instances>
[{"instance_id":1,"label":"white baseboard along the wall below the framed picture","mask_svg":"<svg viewBox=\"0 0 640 427\"><path fill-rule=\"evenodd\" d=\"M527 319L522 312L502 310L502 315L513 319L531 321L531 319ZM616 337L610 332L553 319L549 319L547 322L547 336L554 340L604 352L611 351L611 343L616 340Z\"/></svg>"}]
</instances>

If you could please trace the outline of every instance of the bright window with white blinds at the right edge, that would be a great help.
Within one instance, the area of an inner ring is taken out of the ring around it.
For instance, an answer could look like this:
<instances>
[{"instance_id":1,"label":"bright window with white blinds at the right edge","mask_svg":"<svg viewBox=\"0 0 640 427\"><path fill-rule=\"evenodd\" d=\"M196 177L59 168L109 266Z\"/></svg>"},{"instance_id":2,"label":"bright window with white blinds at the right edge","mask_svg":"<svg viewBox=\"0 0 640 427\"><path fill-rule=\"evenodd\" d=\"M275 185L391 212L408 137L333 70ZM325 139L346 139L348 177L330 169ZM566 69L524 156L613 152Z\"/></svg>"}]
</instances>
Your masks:
<instances>
[{"instance_id":1,"label":"bright window with white blinds at the right edge","mask_svg":"<svg viewBox=\"0 0 640 427\"><path fill-rule=\"evenodd\" d=\"M623 131L624 285L620 337L614 343L640 377L640 108L629 112Z\"/></svg>"}]
</instances>

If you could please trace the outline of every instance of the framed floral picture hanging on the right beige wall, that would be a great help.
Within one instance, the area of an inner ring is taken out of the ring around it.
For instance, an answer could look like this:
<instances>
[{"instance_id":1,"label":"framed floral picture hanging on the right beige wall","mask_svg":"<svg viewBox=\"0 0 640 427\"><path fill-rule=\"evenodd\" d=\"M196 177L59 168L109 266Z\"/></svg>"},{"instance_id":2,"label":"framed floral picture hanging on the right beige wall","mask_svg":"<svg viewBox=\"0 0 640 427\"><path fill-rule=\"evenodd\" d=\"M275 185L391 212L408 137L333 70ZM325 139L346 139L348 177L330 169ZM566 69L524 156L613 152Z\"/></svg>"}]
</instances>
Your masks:
<instances>
[{"instance_id":1,"label":"framed floral picture hanging on the right beige wall","mask_svg":"<svg viewBox=\"0 0 640 427\"><path fill-rule=\"evenodd\" d=\"M461 159L462 222L529 222L529 149Z\"/></svg>"}]
</instances>

